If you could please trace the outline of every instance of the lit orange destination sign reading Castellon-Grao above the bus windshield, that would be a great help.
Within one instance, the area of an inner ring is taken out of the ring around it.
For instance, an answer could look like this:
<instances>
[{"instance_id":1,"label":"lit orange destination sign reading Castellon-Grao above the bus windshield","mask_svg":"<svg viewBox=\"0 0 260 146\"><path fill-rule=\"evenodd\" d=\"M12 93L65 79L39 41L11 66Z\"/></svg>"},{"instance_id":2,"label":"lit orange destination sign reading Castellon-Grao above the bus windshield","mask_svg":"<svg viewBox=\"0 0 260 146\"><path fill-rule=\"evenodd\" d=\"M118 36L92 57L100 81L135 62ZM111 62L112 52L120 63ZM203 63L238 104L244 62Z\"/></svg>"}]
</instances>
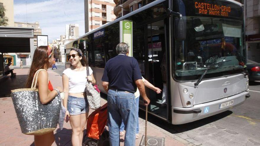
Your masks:
<instances>
[{"instance_id":1,"label":"lit orange destination sign reading Castellon-Grao above the bus windshield","mask_svg":"<svg viewBox=\"0 0 260 146\"><path fill-rule=\"evenodd\" d=\"M215 15L228 17L231 13L231 7L219 4L205 3L205 2L194 2L194 7L197 14Z\"/></svg>"}]
</instances>

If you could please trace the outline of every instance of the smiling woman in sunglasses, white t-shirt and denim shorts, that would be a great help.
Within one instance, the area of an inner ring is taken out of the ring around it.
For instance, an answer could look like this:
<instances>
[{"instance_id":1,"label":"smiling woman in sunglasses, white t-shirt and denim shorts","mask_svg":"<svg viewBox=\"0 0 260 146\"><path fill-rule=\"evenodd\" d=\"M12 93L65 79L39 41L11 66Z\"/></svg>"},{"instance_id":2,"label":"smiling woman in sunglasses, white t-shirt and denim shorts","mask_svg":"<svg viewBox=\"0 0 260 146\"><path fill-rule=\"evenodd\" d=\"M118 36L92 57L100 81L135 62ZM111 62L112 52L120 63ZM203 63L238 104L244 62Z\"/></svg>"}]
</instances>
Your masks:
<instances>
[{"instance_id":1,"label":"smiling woman in sunglasses, white t-shirt and denim shorts","mask_svg":"<svg viewBox=\"0 0 260 146\"><path fill-rule=\"evenodd\" d=\"M64 70L62 76L65 92L63 104L66 108L64 119L69 118L72 127L71 142L73 146L78 146L82 145L83 130L85 129L89 113L86 83L90 81L95 84L96 81L90 67L88 67L90 76L87 76L87 60L80 49L71 49L68 57L71 67Z\"/></svg>"}]
</instances>

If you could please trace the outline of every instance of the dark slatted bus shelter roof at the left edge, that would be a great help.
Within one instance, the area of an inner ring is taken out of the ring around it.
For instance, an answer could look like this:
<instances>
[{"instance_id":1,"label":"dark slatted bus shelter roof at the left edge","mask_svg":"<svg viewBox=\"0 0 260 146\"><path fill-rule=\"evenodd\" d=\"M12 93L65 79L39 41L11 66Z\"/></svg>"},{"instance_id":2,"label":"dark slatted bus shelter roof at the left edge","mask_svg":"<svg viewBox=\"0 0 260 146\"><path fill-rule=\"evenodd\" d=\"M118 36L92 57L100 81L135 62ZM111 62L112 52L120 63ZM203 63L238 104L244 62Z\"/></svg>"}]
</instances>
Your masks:
<instances>
[{"instance_id":1,"label":"dark slatted bus shelter roof at the left edge","mask_svg":"<svg viewBox=\"0 0 260 146\"><path fill-rule=\"evenodd\" d=\"M30 38L33 38L33 28L0 26L0 52L30 52Z\"/></svg>"}]
</instances>

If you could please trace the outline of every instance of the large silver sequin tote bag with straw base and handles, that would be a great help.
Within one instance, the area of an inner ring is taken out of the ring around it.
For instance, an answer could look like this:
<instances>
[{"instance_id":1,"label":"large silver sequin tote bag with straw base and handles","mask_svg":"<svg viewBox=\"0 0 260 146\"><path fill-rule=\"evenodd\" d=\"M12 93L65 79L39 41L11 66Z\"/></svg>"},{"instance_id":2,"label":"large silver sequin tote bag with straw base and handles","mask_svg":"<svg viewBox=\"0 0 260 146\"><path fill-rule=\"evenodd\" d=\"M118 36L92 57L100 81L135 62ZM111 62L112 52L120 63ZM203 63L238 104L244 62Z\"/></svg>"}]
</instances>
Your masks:
<instances>
[{"instance_id":1,"label":"large silver sequin tote bag with straw base and handles","mask_svg":"<svg viewBox=\"0 0 260 146\"><path fill-rule=\"evenodd\" d=\"M31 88L12 90L12 100L22 133L43 135L56 129L61 110L61 98L58 94L47 104L42 104L36 88L39 72L37 70ZM34 82L35 81L35 82Z\"/></svg>"}]
</instances>

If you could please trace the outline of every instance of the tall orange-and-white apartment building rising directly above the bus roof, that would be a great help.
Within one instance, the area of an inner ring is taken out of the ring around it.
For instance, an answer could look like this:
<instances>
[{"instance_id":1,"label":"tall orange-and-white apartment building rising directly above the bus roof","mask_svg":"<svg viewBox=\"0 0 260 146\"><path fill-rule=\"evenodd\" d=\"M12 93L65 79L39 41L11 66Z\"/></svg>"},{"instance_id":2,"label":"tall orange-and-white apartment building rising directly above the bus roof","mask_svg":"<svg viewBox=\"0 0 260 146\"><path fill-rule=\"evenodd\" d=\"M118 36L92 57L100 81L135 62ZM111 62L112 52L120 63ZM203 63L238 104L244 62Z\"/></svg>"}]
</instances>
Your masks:
<instances>
[{"instance_id":1,"label":"tall orange-and-white apartment building rising directly above the bus roof","mask_svg":"<svg viewBox=\"0 0 260 146\"><path fill-rule=\"evenodd\" d=\"M85 33L116 19L113 0L84 0Z\"/></svg>"}]
</instances>

